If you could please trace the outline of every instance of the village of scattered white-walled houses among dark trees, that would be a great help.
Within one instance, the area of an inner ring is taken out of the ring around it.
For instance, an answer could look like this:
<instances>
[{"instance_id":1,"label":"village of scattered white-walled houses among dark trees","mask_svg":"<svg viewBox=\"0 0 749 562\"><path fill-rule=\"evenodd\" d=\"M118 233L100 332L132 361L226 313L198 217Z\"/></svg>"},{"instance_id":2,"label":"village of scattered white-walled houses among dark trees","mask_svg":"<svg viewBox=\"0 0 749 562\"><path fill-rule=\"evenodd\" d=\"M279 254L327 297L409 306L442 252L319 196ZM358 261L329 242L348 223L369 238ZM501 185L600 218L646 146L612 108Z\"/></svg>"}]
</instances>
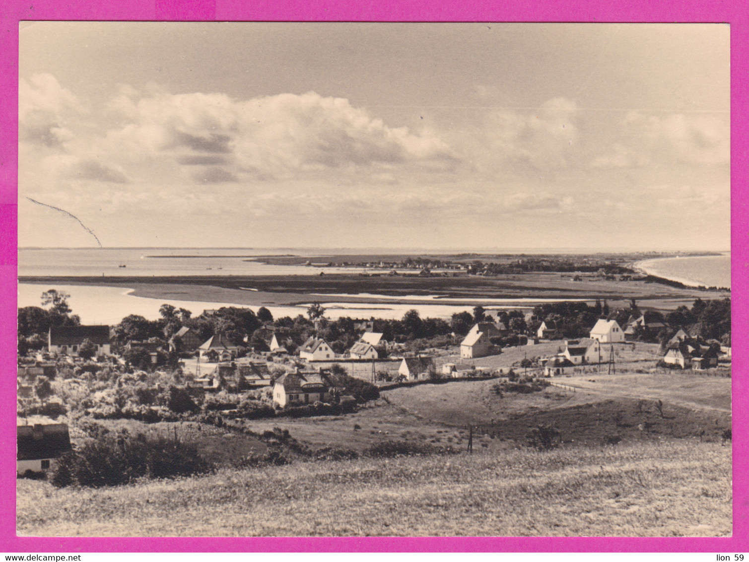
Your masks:
<instances>
[{"instance_id":1,"label":"village of scattered white-walled houses among dark trees","mask_svg":"<svg viewBox=\"0 0 749 562\"><path fill-rule=\"evenodd\" d=\"M351 414L383 392L418 395L424 384L495 381L501 395L500 387L574 392L566 379L585 387L592 374L730 376L730 301L698 299L665 315L634 300L618 310L599 301L476 306L449 323L415 309L402 321L330 321L318 303L294 319L241 308L192 318L164 305L159 321L131 315L110 327L75 325L66 296L46 291L48 311L19 309L19 476L54 472L80 441L68 423L87 419L241 426ZM40 338L45 321L55 325Z\"/></svg>"}]
</instances>

